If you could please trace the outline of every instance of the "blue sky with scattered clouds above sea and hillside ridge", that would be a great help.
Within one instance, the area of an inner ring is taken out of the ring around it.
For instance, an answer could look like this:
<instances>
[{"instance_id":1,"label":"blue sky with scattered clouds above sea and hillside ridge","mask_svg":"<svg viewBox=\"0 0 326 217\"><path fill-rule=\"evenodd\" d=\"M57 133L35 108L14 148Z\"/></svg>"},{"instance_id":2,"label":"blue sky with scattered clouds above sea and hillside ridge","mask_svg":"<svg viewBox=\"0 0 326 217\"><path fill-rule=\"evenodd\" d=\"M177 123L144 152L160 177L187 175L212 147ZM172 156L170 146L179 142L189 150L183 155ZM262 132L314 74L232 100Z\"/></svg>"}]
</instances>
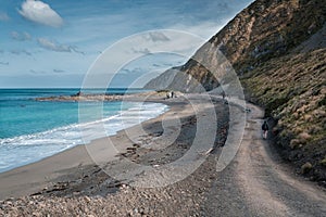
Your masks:
<instances>
[{"instance_id":1,"label":"blue sky with scattered clouds above sea and hillside ridge","mask_svg":"<svg viewBox=\"0 0 326 217\"><path fill-rule=\"evenodd\" d=\"M0 0L0 88L140 87L251 2Z\"/></svg>"}]
</instances>

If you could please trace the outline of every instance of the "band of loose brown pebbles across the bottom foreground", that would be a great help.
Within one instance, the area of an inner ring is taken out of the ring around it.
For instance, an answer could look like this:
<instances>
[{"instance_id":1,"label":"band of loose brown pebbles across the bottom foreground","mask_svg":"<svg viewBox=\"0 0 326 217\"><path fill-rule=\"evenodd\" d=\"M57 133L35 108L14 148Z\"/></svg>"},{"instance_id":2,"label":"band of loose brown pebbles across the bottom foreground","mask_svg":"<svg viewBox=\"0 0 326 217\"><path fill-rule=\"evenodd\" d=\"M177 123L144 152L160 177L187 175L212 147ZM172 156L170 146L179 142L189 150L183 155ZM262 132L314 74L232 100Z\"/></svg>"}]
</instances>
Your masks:
<instances>
[{"instance_id":1,"label":"band of loose brown pebbles across the bottom foreground","mask_svg":"<svg viewBox=\"0 0 326 217\"><path fill-rule=\"evenodd\" d=\"M215 170L204 168L204 173L197 174L197 177L190 176L180 182L158 189L135 189L126 183L122 183L116 193L109 193L101 196L99 196L98 193L93 193L96 194L93 195L87 192L87 189L83 189L80 192L74 192L74 189L71 189L70 196L55 196L54 193L53 196L26 196L21 201L11 199L12 202L9 200L5 202L0 201L0 203L9 205L14 203L14 206L23 204L25 206L24 209L17 210L16 216L24 216L24 214L30 215L32 213L34 213L35 216L49 217L50 214L51 216L86 217L180 216L180 214L184 214L183 212L185 212L186 216L193 216L196 212L199 212L202 205L203 197L200 194L204 194L204 192L208 191L203 188L203 182L206 182L211 177L214 179L212 175L213 171ZM100 186L95 184L92 192L98 192L98 188L100 188ZM196 197L196 200L189 200L189 197ZM13 210L13 207L9 205L3 208L4 212ZM79 209L79 207L83 208L83 210ZM45 213L49 214L46 215Z\"/></svg>"}]
</instances>

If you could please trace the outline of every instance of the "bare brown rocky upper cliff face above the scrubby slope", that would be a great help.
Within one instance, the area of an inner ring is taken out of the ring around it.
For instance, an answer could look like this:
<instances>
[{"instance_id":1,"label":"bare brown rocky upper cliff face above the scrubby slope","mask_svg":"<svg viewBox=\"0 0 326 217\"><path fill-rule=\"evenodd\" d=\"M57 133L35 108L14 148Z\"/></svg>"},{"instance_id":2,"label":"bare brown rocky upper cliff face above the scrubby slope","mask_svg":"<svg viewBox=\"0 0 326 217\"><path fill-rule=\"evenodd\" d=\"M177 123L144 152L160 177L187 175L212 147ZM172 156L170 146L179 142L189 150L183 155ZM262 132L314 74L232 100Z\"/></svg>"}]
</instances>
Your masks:
<instances>
[{"instance_id":1,"label":"bare brown rocky upper cliff face above the scrubby slope","mask_svg":"<svg viewBox=\"0 0 326 217\"><path fill-rule=\"evenodd\" d=\"M200 82L206 90L218 86L208 69L218 67L216 50L223 52L240 76L273 58L287 54L323 27L325 5L325 0L256 0L203 44L180 68L179 74L191 76L188 78L184 75L180 78L187 77L186 82L192 84L192 88L180 87L185 80L181 82L177 77L168 87L196 91L196 82Z\"/></svg>"}]
</instances>

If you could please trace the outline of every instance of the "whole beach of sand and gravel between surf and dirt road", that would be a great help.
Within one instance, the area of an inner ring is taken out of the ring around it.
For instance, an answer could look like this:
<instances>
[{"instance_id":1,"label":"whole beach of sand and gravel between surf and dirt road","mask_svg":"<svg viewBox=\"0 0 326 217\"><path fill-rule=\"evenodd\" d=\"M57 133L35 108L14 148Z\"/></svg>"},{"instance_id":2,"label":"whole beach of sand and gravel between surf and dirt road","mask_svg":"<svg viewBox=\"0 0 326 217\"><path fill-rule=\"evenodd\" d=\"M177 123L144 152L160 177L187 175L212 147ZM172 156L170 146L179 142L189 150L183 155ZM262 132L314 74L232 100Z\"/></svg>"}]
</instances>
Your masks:
<instances>
[{"instance_id":1,"label":"whole beach of sand and gravel between surf and dirt road","mask_svg":"<svg viewBox=\"0 0 326 217\"><path fill-rule=\"evenodd\" d=\"M200 213L218 176L215 157L227 139L228 105L200 94L147 101L165 102L171 110L115 136L0 174L0 216ZM164 184L164 179L171 182Z\"/></svg>"}]
</instances>

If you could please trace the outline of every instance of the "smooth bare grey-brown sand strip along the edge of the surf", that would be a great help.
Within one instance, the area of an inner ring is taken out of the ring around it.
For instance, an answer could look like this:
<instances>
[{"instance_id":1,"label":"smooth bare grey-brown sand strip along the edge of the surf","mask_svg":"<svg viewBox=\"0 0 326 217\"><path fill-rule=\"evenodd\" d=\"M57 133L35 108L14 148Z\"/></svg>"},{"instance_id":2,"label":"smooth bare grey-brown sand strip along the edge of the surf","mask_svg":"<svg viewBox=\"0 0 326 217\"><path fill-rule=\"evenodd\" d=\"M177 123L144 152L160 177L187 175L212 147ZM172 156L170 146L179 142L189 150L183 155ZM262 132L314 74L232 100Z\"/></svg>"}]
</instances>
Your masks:
<instances>
[{"instance_id":1,"label":"smooth bare grey-brown sand strip along the edge of the surf","mask_svg":"<svg viewBox=\"0 0 326 217\"><path fill-rule=\"evenodd\" d=\"M143 97L143 95L142 95ZM148 97L148 95L147 95ZM134 98L133 101L141 101L143 98ZM179 101L179 100L175 100ZM168 116L179 110L183 106L184 102L171 102L162 99L161 95L149 97L146 99L146 102L152 103L162 103L170 106L170 110L160 114L155 118L151 118L139 125L127 128L128 130L133 128L138 128L141 125L151 125L153 122L158 122L162 119L164 116ZM90 141L87 144L78 144L76 146L72 146L63 152L59 152L54 155L45 157L40 161L20 166L8 171L3 171L0 174L0 200L4 200L7 197L18 197L28 194L33 194L37 191L41 191L47 189L50 183L53 181L65 181L68 179L74 179L77 176L78 170L84 170L86 167L91 167L95 165L93 161L89 156L87 152L86 145L99 146L98 149L103 149L101 144L105 143L108 138L116 139L124 135L126 129L117 131L115 135L104 138L99 138ZM137 131L137 130L136 130ZM127 148L133 146L133 144L127 144L127 141L118 142L121 152L127 150ZM109 157L109 162L115 161L118 157L115 155L111 155ZM108 161L108 159L105 159ZM85 167L85 168L84 168ZM65 170L74 170L77 171L76 176L73 177L63 177L62 175L66 175ZM84 173L84 171L83 171Z\"/></svg>"}]
</instances>

